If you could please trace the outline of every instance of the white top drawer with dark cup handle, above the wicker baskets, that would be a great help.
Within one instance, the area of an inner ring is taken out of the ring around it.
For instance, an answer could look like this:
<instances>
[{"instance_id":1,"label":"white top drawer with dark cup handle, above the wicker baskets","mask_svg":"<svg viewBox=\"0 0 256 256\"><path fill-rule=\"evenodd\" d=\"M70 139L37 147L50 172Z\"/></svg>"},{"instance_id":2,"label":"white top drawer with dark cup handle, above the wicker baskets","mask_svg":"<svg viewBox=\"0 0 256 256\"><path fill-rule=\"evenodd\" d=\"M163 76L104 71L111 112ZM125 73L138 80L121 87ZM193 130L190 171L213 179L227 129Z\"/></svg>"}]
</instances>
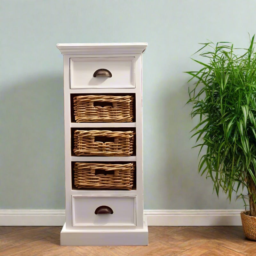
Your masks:
<instances>
[{"instance_id":1,"label":"white top drawer with dark cup handle, above the wicker baskets","mask_svg":"<svg viewBox=\"0 0 256 256\"><path fill-rule=\"evenodd\" d=\"M70 88L135 88L135 58L70 58Z\"/></svg>"}]
</instances>

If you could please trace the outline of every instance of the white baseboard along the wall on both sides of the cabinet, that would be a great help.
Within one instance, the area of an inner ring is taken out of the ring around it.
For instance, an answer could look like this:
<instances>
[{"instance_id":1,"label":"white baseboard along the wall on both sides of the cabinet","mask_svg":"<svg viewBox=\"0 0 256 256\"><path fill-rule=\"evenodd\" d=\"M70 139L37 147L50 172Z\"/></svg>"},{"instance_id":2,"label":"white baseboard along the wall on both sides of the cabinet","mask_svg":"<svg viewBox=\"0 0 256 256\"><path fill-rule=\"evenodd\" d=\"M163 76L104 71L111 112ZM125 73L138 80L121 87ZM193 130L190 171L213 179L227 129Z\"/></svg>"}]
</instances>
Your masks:
<instances>
[{"instance_id":1,"label":"white baseboard along the wall on both sides of the cabinet","mask_svg":"<svg viewBox=\"0 0 256 256\"><path fill-rule=\"evenodd\" d=\"M241 226L243 210L144 210L148 226ZM0 210L0 226L63 226L65 210Z\"/></svg>"}]
</instances>

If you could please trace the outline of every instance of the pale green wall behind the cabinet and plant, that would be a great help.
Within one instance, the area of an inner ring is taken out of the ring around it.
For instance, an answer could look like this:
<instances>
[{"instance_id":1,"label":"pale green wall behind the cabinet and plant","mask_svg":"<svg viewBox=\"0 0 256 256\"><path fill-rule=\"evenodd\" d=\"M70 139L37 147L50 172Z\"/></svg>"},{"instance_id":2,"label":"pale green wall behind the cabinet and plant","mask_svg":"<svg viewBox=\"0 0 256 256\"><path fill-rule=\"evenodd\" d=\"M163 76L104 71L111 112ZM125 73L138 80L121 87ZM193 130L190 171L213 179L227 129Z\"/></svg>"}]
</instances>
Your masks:
<instances>
[{"instance_id":1,"label":"pale green wall behind the cabinet and plant","mask_svg":"<svg viewBox=\"0 0 256 256\"><path fill-rule=\"evenodd\" d=\"M0 1L0 208L64 208L62 55L57 43L148 42L143 56L145 209L226 209L197 174L188 100L198 42L248 44L256 1Z\"/></svg>"}]
</instances>

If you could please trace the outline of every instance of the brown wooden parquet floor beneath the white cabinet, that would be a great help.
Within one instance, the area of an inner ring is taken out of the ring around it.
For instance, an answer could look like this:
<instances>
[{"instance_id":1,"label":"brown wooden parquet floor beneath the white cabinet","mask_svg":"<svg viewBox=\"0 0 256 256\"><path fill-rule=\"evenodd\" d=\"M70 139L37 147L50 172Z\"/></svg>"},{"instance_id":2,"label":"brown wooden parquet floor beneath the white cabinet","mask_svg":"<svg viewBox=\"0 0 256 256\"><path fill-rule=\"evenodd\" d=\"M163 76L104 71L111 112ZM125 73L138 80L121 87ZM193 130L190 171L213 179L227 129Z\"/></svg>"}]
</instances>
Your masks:
<instances>
[{"instance_id":1,"label":"brown wooden parquet floor beneath the white cabinet","mask_svg":"<svg viewBox=\"0 0 256 256\"><path fill-rule=\"evenodd\" d=\"M61 227L0 227L1 256L256 256L242 227L148 227L148 246L60 246Z\"/></svg>"}]
</instances>

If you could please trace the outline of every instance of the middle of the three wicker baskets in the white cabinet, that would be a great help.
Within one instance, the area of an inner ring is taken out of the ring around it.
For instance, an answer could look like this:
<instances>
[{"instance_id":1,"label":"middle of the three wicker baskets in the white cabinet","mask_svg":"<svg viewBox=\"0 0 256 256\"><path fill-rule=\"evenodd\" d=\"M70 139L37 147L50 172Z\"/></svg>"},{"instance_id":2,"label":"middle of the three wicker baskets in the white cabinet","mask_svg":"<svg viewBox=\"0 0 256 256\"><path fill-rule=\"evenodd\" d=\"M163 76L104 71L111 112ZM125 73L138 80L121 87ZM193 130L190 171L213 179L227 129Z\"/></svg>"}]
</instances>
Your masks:
<instances>
[{"instance_id":1,"label":"middle of the three wicker baskets in the white cabinet","mask_svg":"<svg viewBox=\"0 0 256 256\"><path fill-rule=\"evenodd\" d=\"M131 156L135 132L81 131L74 132L76 156Z\"/></svg>"}]
</instances>

